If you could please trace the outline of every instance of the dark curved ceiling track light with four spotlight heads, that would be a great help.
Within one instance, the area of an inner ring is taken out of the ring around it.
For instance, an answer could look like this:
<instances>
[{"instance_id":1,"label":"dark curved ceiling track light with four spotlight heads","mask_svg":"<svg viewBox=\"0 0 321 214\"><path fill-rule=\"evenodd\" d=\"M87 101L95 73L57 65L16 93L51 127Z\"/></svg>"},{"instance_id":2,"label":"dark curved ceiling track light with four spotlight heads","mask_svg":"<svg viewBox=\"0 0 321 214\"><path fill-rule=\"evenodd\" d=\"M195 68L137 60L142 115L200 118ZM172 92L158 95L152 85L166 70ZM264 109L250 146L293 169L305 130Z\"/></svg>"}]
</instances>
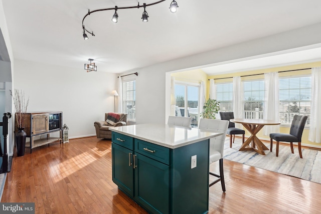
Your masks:
<instances>
[{"instance_id":1,"label":"dark curved ceiling track light with four spotlight heads","mask_svg":"<svg viewBox=\"0 0 321 214\"><path fill-rule=\"evenodd\" d=\"M115 8L106 8L106 9L98 9L98 10L94 10L94 11L89 11L88 10L88 13L84 16L84 18L82 19L82 28L83 28L83 37L84 37L84 40L88 40L88 36L86 33L89 33L91 34L91 36L95 36L94 35L94 32L90 32L88 31L85 26L84 26L84 21L86 19L87 16L89 16L90 14L92 13L95 13L95 12L98 12L98 11L110 11L110 10L115 10L115 13L114 15L112 16L112 19L111 21L114 22L114 23L117 23L118 22L118 14L117 14L117 10L120 10L120 9L132 9L132 8L141 8L143 7L144 8L144 12L142 13L142 16L141 16L141 19L143 22L148 22L148 14L146 12L146 7L148 6L152 6L152 5L156 5L156 4L159 4L159 3L162 3L162 2L165 2L166 0L160 0L158 2L154 2L154 3L150 3L150 4L143 4L143 5L138 5L137 6L132 6L132 7L122 7L122 8L118 8L117 6L115 6ZM170 5L170 11L172 13L176 13L177 11L177 8L179 6L177 5L177 2L175 0L172 1L171 5Z\"/></svg>"}]
</instances>

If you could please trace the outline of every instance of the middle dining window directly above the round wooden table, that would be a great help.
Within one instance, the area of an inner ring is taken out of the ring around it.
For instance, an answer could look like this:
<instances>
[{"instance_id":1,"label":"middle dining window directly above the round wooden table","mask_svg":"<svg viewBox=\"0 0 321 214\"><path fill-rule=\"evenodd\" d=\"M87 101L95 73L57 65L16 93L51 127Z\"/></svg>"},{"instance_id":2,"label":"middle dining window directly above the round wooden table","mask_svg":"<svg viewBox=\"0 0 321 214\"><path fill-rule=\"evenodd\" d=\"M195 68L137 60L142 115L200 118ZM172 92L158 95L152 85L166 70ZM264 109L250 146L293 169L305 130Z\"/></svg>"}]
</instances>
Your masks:
<instances>
[{"instance_id":1,"label":"middle dining window directly above the round wooden table","mask_svg":"<svg viewBox=\"0 0 321 214\"><path fill-rule=\"evenodd\" d=\"M265 97L264 80L242 82L243 110L245 119L263 119Z\"/></svg>"}]
</instances>

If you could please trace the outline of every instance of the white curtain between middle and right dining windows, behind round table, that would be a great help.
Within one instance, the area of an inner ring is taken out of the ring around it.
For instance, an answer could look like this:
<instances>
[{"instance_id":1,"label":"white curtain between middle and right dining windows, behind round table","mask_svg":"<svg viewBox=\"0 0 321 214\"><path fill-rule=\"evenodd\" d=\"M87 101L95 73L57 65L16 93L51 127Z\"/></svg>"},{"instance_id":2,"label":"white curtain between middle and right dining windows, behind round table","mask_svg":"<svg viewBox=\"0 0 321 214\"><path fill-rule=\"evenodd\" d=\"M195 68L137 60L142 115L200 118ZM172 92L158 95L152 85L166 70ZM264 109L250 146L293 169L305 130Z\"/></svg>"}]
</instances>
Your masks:
<instances>
[{"instance_id":1,"label":"white curtain between middle and right dining windows, behind round table","mask_svg":"<svg viewBox=\"0 0 321 214\"><path fill-rule=\"evenodd\" d=\"M263 119L279 121L279 76L277 72L264 74L265 106ZM279 125L264 126L264 134L280 132Z\"/></svg>"}]
</instances>

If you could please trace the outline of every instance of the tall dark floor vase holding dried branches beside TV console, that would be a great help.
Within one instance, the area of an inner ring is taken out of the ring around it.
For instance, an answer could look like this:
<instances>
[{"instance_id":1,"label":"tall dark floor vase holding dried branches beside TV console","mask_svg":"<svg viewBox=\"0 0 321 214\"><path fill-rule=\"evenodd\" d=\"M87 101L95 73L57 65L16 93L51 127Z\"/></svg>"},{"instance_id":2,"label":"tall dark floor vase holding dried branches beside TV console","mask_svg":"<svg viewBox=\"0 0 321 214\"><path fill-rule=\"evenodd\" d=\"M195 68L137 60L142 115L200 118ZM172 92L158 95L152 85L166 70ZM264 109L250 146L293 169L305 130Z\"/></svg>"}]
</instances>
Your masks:
<instances>
[{"instance_id":1,"label":"tall dark floor vase holding dried branches beside TV console","mask_svg":"<svg viewBox=\"0 0 321 214\"><path fill-rule=\"evenodd\" d=\"M25 146L26 146L26 137L27 134L24 131L25 126L25 113L27 112L27 107L29 104L29 98L25 99L25 93L22 90L14 90L14 94L11 92L11 95L14 100L14 105L16 109L16 128L18 132L15 131L16 137L16 147L17 147L17 155L23 156L25 155Z\"/></svg>"}]
</instances>

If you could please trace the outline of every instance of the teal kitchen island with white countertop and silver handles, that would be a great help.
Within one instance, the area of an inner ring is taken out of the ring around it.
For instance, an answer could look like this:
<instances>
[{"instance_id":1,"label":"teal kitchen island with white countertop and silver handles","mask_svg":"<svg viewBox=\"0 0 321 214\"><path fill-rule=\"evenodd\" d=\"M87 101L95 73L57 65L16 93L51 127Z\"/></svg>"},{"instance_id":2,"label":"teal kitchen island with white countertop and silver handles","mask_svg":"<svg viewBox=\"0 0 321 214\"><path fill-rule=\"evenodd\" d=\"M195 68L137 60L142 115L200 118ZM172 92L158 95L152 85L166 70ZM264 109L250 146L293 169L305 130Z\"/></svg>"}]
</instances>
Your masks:
<instances>
[{"instance_id":1,"label":"teal kitchen island with white countertop and silver handles","mask_svg":"<svg viewBox=\"0 0 321 214\"><path fill-rule=\"evenodd\" d=\"M222 133L167 124L110 129L121 191L150 213L208 212L209 139Z\"/></svg>"}]
</instances>

